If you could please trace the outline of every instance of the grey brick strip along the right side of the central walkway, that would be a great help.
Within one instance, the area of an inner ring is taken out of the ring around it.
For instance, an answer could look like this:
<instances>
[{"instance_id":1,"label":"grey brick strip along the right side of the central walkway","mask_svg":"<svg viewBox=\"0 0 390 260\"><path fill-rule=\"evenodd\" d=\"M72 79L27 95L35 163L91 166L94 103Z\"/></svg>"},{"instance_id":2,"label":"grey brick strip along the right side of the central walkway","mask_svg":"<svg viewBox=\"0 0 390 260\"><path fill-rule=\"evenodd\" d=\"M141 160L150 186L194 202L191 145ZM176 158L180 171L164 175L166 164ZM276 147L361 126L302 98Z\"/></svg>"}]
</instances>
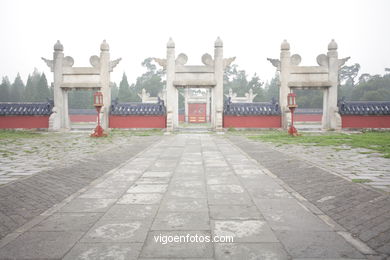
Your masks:
<instances>
[{"instance_id":1,"label":"grey brick strip along the right side of the central walkway","mask_svg":"<svg viewBox=\"0 0 390 260\"><path fill-rule=\"evenodd\" d=\"M388 193L334 175L329 167L317 167L318 158L301 160L300 153L281 152L275 145L238 136L229 139L320 209L322 214L331 217L371 248L390 256Z\"/></svg>"}]
</instances>

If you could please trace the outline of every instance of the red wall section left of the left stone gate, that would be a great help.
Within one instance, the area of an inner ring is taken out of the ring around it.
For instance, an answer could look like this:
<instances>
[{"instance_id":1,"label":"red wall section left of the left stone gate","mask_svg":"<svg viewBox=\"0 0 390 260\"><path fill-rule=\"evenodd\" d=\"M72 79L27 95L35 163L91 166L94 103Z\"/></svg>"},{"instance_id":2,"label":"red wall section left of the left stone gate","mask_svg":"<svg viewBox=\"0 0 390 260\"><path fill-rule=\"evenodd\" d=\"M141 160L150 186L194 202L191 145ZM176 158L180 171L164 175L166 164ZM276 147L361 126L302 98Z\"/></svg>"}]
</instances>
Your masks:
<instances>
[{"instance_id":1,"label":"red wall section left of the left stone gate","mask_svg":"<svg viewBox=\"0 0 390 260\"><path fill-rule=\"evenodd\" d=\"M49 116L0 116L0 128L49 128Z\"/></svg>"}]
</instances>

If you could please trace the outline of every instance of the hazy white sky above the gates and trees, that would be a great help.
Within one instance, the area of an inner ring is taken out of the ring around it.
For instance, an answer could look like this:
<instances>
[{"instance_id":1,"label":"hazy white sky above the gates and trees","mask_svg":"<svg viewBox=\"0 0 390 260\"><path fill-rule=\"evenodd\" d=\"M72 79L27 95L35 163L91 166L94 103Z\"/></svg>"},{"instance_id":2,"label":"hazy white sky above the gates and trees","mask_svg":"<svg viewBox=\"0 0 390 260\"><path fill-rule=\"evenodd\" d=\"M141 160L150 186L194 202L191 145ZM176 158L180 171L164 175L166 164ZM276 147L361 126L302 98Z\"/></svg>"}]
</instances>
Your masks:
<instances>
[{"instance_id":1,"label":"hazy white sky above the gates and trees","mask_svg":"<svg viewBox=\"0 0 390 260\"><path fill-rule=\"evenodd\" d=\"M13 81L20 72L24 82L34 67L52 73L41 57L52 58L60 40L74 66L90 66L100 43L110 44L111 58L122 57L112 73L119 82L144 72L147 57L164 58L172 37L176 54L184 52L189 64L213 55L214 41L224 42L224 56L250 75L270 80L275 68L266 60L278 58L287 39L291 53L302 65L316 65L332 38L339 56L351 56L361 72L383 74L390 67L390 1L387 0L2 0L0 1L0 76Z\"/></svg>"}]
</instances>

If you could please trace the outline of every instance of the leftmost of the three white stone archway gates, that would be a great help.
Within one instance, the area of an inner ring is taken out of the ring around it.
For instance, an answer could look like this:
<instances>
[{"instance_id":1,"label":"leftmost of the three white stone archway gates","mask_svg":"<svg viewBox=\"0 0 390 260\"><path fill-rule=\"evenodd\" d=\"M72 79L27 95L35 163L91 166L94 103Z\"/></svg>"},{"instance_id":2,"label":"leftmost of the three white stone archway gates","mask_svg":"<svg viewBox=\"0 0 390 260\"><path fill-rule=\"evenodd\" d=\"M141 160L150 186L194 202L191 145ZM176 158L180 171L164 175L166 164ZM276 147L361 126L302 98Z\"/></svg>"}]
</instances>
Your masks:
<instances>
[{"instance_id":1,"label":"leftmost of the three white stone archway gates","mask_svg":"<svg viewBox=\"0 0 390 260\"><path fill-rule=\"evenodd\" d=\"M110 72L121 59L110 61L110 48L105 40L100 45L100 50L100 57L94 55L90 58L92 67L73 67L74 60L70 56L64 57L64 47L60 41L54 45L53 60L42 58L54 73L54 108L50 116L52 130L70 128L67 91L71 89L94 89L103 93L102 127L108 129L111 106Z\"/></svg>"}]
</instances>

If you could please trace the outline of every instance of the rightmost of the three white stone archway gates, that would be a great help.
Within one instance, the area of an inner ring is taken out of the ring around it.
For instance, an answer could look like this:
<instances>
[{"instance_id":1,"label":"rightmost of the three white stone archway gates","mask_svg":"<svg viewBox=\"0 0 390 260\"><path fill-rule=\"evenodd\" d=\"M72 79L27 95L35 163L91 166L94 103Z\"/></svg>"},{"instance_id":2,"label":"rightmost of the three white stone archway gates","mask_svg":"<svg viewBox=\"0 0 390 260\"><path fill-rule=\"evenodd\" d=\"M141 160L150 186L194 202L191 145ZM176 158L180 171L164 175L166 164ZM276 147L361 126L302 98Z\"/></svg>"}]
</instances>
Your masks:
<instances>
[{"instance_id":1,"label":"rightmost of the three white stone archway gates","mask_svg":"<svg viewBox=\"0 0 390 260\"><path fill-rule=\"evenodd\" d=\"M338 73L349 57L338 58L337 43L334 40L328 44L326 55L317 56L319 66L299 66L301 56L290 55L290 44L286 40L282 42L280 49L280 60L268 60L280 71L279 104L282 127L287 129L290 120L287 94L294 89L320 89L324 93L322 128L341 129L341 117L337 107Z\"/></svg>"}]
</instances>

